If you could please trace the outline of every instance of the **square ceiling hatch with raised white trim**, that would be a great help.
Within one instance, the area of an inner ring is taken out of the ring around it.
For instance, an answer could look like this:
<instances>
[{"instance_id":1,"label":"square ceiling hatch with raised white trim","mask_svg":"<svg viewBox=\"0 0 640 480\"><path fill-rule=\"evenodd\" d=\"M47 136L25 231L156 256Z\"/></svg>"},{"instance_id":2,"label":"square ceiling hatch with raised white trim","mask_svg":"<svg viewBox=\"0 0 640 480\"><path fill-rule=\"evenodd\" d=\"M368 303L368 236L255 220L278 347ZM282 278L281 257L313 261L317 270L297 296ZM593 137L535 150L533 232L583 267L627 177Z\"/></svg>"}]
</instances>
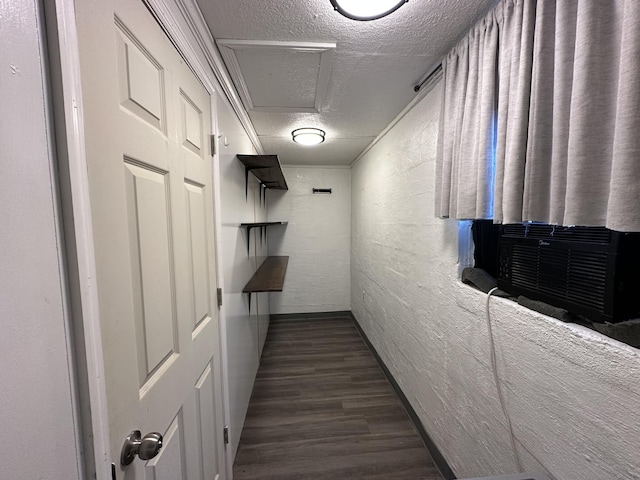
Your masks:
<instances>
[{"instance_id":1,"label":"square ceiling hatch with raised white trim","mask_svg":"<svg viewBox=\"0 0 640 480\"><path fill-rule=\"evenodd\" d=\"M317 113L324 105L335 43L218 39L217 44L247 111ZM296 69L295 75L286 75L292 56L301 68ZM270 83L263 76L260 84L255 80L250 83L247 80L255 75L249 73L245 77L246 70L260 62L273 67L274 72L284 72L283 77Z\"/></svg>"}]
</instances>

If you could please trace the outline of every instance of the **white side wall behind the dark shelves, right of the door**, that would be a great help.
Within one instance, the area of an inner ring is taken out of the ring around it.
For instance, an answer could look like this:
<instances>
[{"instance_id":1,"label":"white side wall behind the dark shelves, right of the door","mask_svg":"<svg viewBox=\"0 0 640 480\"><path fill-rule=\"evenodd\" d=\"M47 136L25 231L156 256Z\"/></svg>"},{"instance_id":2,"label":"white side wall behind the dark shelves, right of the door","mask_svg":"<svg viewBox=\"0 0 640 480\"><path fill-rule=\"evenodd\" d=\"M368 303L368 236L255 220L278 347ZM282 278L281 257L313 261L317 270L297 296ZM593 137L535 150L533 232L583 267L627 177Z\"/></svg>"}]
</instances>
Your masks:
<instances>
[{"instance_id":1,"label":"white side wall behind the dark shelves, right of the door","mask_svg":"<svg viewBox=\"0 0 640 480\"><path fill-rule=\"evenodd\" d=\"M251 232L247 253L246 230L241 223L264 222L266 206L260 205L259 184L249 175L249 192L245 198L244 166L238 153L255 153L248 135L226 100L218 95L218 161L220 209L222 212L222 288L221 317L227 340L228 422L233 457L238 449L244 418L247 414L259 357L269 327L268 294L253 294L251 314L248 295L242 289L267 256L267 243L260 244L257 229ZM225 146L225 143L227 145Z\"/></svg>"}]
</instances>

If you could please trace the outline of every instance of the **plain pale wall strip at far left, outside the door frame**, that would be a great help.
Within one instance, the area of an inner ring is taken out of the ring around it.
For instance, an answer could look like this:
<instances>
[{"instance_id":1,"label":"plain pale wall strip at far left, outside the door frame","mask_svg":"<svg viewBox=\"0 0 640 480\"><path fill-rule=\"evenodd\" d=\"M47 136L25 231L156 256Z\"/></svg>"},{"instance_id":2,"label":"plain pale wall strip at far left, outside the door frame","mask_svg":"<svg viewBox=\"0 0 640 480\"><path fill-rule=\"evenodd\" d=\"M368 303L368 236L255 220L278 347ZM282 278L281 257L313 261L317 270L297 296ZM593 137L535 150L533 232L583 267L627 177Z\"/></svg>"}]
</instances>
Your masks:
<instances>
[{"instance_id":1,"label":"plain pale wall strip at far left, outside the door frame","mask_svg":"<svg viewBox=\"0 0 640 480\"><path fill-rule=\"evenodd\" d=\"M37 4L0 3L0 476L78 479Z\"/></svg>"}]
</instances>

